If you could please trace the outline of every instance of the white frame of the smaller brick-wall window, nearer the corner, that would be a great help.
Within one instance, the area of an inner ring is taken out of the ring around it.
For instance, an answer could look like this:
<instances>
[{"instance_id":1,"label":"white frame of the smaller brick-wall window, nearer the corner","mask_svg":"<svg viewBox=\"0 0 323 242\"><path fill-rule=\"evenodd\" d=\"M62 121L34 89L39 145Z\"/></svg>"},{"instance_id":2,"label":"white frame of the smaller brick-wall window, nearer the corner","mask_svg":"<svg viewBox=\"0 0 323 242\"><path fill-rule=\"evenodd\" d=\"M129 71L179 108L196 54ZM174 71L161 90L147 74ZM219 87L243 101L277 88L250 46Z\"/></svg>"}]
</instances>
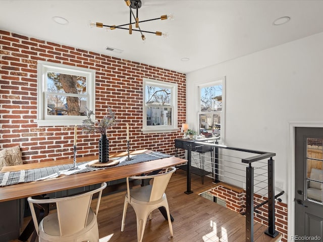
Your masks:
<instances>
[{"instance_id":1,"label":"white frame of the smaller brick-wall window, nearer the corner","mask_svg":"<svg viewBox=\"0 0 323 242\"><path fill-rule=\"evenodd\" d=\"M146 86L157 86L162 88L171 89L171 106L172 108L172 125L154 125L154 126L147 126L147 107L146 105ZM174 132L178 131L178 124L177 124L177 84L170 83L170 82L163 82L151 79L143 79L143 115L142 115L142 132L144 134L148 133L165 133L165 132Z\"/></svg>"}]
</instances>

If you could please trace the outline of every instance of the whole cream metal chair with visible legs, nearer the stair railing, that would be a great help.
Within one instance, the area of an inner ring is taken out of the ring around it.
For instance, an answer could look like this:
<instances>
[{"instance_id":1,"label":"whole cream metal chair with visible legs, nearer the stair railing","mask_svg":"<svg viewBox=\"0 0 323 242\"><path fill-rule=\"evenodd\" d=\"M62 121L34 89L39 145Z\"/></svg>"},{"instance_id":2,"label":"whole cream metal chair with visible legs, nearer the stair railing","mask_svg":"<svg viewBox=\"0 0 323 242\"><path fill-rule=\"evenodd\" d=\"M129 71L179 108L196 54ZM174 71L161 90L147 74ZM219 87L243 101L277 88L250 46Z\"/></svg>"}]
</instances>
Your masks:
<instances>
[{"instance_id":1,"label":"whole cream metal chair with visible legs, nearer the stair railing","mask_svg":"<svg viewBox=\"0 0 323 242\"><path fill-rule=\"evenodd\" d=\"M133 207L136 213L138 242L142 241L148 215L149 215L149 219L152 219L153 210L159 207L165 207L167 212L168 223L170 227L170 233L171 233L171 236L173 237L173 227L172 227L171 216L170 216L165 190L167 188L167 185L169 183L169 180L173 172L175 171L176 171L176 168L171 166L166 168L164 173L127 177L127 193L125 196L125 203L123 208L121 231L124 231L125 229L125 220L126 220L126 212L127 212L128 204L130 204ZM131 179L152 178L152 184L130 190L129 178Z\"/></svg>"}]
</instances>

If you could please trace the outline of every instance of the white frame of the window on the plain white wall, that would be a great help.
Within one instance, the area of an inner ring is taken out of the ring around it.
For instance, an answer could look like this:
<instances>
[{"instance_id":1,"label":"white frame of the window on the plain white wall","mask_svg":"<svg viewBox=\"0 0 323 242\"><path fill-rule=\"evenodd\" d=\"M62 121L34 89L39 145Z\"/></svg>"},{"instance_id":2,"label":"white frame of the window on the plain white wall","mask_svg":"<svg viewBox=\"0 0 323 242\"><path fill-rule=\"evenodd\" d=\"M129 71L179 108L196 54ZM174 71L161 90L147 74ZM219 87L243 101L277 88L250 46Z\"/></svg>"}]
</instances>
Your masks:
<instances>
[{"instance_id":1,"label":"white frame of the window on the plain white wall","mask_svg":"<svg viewBox=\"0 0 323 242\"><path fill-rule=\"evenodd\" d=\"M201 88L222 85L222 110L221 111L201 111ZM221 115L221 129L220 129L220 140L219 144L225 143L225 110L226 110L226 101L225 101L225 93L226 93L226 77L221 77L218 79L214 79L210 82L198 84L197 85L197 96L198 96L198 111L197 111L197 135L199 134L200 129L200 114L212 114L212 113L220 113Z\"/></svg>"}]
</instances>

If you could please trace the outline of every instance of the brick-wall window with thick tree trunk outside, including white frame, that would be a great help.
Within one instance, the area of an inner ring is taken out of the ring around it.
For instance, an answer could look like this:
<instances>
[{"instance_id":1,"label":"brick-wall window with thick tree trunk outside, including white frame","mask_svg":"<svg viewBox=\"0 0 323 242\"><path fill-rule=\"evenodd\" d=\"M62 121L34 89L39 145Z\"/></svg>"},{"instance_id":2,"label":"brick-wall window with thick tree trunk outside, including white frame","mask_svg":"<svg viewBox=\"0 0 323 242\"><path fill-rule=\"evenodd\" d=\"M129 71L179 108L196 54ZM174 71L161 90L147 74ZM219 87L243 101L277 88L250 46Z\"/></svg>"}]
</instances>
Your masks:
<instances>
[{"instance_id":1,"label":"brick-wall window with thick tree trunk outside, including white frame","mask_svg":"<svg viewBox=\"0 0 323 242\"><path fill-rule=\"evenodd\" d=\"M50 62L38 62L39 126L81 125L87 107L95 108L95 71Z\"/></svg>"}]
</instances>

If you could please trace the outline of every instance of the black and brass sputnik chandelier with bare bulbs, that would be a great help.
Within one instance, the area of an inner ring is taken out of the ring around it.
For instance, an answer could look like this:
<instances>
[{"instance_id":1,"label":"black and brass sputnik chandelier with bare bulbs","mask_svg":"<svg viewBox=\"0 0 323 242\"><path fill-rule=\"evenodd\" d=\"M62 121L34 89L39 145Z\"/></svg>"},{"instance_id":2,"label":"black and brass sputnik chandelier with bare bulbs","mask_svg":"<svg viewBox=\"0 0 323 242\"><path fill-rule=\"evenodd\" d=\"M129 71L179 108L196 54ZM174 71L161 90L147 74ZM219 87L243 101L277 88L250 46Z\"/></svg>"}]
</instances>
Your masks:
<instances>
[{"instance_id":1,"label":"black and brass sputnik chandelier with bare bulbs","mask_svg":"<svg viewBox=\"0 0 323 242\"><path fill-rule=\"evenodd\" d=\"M154 18L154 19L148 19L148 20L141 20L139 21L139 17L138 17L138 10L141 8L141 0L124 0L126 5L129 7L129 13L130 13L130 21L127 24L122 24L122 25L106 25L106 24L102 24L102 23L92 23L90 22L90 27L98 27L98 28L103 28L106 27L106 30L114 30L114 29L125 29L129 31L129 34L132 34L132 31L137 31L140 32L141 34L141 39L143 42L145 42L146 37L144 35L144 33L150 33L150 34L155 34L157 36L163 36L165 38L168 37L168 33L162 33L159 31L156 32L151 32L151 31L145 31L142 30L139 26L139 23L143 23L143 22L148 22L148 21L153 21L153 20L166 20L166 19L170 19L173 20L174 16L173 14L169 14L169 15L163 15L160 16L159 18ZM132 9L136 10L136 16L133 13ZM135 24L135 28L132 28L132 25ZM128 28L126 28L126 26L128 26Z\"/></svg>"}]
</instances>

